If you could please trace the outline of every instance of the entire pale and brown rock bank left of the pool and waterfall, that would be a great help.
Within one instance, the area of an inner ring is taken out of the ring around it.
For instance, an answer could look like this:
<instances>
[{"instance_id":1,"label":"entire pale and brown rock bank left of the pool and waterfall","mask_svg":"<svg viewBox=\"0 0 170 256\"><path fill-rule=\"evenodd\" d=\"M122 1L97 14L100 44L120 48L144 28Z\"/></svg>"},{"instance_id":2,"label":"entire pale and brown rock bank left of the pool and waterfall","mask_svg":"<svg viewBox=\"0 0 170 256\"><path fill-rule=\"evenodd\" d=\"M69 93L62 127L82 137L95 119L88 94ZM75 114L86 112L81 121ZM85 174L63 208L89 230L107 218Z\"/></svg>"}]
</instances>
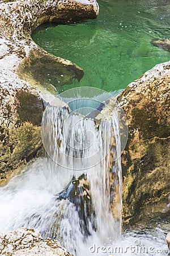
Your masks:
<instances>
[{"instance_id":1,"label":"entire pale and brown rock bank left of the pool and waterfall","mask_svg":"<svg viewBox=\"0 0 170 256\"><path fill-rule=\"evenodd\" d=\"M42 155L41 117L47 102L63 84L84 74L37 46L31 32L44 22L94 19L99 6L96 0L17 0L1 1L0 8L1 183L22 163Z\"/></svg>"}]
</instances>

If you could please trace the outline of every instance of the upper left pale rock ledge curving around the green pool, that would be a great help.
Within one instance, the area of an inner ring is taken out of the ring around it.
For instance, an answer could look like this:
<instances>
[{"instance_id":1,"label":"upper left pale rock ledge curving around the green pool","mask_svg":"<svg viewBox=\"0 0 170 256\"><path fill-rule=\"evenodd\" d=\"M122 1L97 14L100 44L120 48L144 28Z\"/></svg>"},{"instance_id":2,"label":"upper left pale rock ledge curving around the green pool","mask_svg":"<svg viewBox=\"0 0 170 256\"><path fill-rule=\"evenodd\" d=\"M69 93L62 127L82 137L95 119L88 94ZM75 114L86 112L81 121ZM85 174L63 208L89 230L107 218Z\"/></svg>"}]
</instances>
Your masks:
<instances>
[{"instance_id":1,"label":"upper left pale rock ledge curving around the green pool","mask_svg":"<svg viewBox=\"0 0 170 256\"><path fill-rule=\"evenodd\" d=\"M96 18L99 13L96 0L1 1L0 7L0 75L3 70L10 69L40 88L45 80L45 87L48 85L52 91L50 76L54 74L48 73L49 67L56 69L54 86L71 82L74 78L81 79L81 68L41 49L32 41L31 32L44 22Z\"/></svg>"}]
</instances>

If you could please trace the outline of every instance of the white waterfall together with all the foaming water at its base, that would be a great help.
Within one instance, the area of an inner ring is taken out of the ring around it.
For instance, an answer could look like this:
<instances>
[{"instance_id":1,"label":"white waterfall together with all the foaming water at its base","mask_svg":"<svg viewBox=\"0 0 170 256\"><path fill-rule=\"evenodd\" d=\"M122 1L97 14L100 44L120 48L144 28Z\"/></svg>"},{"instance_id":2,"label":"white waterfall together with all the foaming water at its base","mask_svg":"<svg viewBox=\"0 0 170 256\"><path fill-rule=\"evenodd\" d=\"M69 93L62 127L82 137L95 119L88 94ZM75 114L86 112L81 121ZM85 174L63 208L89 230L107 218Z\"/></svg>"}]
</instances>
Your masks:
<instances>
[{"instance_id":1,"label":"white waterfall together with all the foaming water at its base","mask_svg":"<svg viewBox=\"0 0 170 256\"><path fill-rule=\"evenodd\" d=\"M56 238L76 256L167 255L155 254L167 249L162 229L153 236L121 236L121 144L115 109L111 118L98 123L49 105L42 140L48 154L0 188L0 232L37 228L42 237ZM143 246L154 251L146 254Z\"/></svg>"}]
</instances>

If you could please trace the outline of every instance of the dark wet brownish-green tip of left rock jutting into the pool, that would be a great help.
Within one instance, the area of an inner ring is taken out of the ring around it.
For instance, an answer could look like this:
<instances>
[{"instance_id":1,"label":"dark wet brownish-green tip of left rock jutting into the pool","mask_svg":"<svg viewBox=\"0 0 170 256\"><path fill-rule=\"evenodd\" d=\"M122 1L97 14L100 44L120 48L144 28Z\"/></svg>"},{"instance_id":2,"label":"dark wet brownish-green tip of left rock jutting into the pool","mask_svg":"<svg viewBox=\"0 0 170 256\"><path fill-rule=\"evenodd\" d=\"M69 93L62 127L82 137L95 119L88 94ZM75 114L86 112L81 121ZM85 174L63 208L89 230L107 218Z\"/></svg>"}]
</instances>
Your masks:
<instances>
[{"instance_id":1,"label":"dark wet brownish-green tip of left rock jutting into the pool","mask_svg":"<svg viewBox=\"0 0 170 256\"><path fill-rule=\"evenodd\" d=\"M36 81L51 93L62 92L63 85L71 84L73 79L79 81L84 72L73 63L69 65L69 61L65 65L64 61L61 63L59 60L45 51L32 50L19 65L19 77L34 84Z\"/></svg>"}]
</instances>

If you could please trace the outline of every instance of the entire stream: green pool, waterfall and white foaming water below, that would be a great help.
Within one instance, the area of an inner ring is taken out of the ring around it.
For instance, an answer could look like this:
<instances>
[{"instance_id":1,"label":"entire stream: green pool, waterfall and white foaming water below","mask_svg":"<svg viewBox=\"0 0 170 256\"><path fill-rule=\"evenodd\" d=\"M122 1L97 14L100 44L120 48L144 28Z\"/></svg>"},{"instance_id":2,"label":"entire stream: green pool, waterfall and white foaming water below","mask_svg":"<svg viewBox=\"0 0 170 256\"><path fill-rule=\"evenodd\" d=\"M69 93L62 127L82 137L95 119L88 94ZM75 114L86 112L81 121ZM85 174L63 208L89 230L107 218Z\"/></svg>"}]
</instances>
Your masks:
<instances>
[{"instance_id":1,"label":"entire stream: green pool, waterfall and white foaming water below","mask_svg":"<svg viewBox=\"0 0 170 256\"><path fill-rule=\"evenodd\" d=\"M85 71L79 84L59 88L56 81L58 92L74 86L120 90L169 58L168 52L150 44L155 37L169 36L168 1L100 0L99 4L96 20L45 26L33 34L41 47ZM45 110L44 157L0 188L0 232L37 228L42 237L57 239L76 256L168 255L164 240L170 231L169 217L143 221L121 233L118 110L100 122L95 119L101 102L111 96L97 94L88 100L69 96L61 94L61 99L70 102L73 112L67 105L61 109L55 104Z\"/></svg>"}]
</instances>

